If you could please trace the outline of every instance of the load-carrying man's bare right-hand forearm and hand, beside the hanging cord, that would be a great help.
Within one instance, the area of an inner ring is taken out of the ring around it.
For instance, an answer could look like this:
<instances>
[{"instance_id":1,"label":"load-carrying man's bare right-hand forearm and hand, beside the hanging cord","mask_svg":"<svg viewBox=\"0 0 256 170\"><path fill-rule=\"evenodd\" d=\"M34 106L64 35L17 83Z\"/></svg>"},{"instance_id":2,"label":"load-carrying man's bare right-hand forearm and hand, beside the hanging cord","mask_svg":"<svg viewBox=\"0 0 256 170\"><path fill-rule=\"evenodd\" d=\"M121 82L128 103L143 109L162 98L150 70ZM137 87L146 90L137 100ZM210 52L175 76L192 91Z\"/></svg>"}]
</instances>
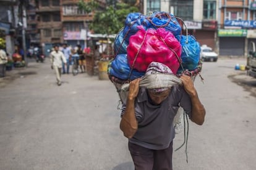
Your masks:
<instances>
[{"instance_id":1,"label":"load-carrying man's bare right-hand forearm and hand, beside the hanging cord","mask_svg":"<svg viewBox=\"0 0 256 170\"><path fill-rule=\"evenodd\" d=\"M192 103L192 116L191 121L198 125L202 125L205 121L205 108L200 102L197 90L194 87L194 83L189 76L181 76L181 80L185 91L189 94Z\"/></svg>"}]
</instances>

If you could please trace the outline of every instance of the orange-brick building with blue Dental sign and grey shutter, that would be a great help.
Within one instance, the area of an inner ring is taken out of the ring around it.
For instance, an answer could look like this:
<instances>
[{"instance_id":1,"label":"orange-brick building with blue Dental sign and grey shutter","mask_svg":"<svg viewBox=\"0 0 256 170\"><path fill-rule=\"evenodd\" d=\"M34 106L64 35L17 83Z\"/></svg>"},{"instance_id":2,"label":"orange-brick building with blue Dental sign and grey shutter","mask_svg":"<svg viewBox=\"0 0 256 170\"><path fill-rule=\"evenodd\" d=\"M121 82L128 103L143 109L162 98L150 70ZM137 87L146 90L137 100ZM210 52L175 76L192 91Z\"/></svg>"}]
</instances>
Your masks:
<instances>
[{"instance_id":1,"label":"orange-brick building with blue Dental sign and grey shutter","mask_svg":"<svg viewBox=\"0 0 256 170\"><path fill-rule=\"evenodd\" d=\"M256 42L256 1L220 1L219 54L247 56L249 42Z\"/></svg>"}]
</instances>

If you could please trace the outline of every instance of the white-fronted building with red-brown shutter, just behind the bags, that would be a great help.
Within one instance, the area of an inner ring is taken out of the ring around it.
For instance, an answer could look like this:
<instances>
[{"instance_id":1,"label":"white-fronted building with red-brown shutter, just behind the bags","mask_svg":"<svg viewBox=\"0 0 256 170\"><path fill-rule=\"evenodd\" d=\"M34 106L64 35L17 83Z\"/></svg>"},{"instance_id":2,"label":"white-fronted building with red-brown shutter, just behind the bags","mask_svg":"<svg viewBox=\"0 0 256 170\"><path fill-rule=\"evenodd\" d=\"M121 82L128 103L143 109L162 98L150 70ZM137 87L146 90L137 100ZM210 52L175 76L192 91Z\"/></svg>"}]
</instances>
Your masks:
<instances>
[{"instance_id":1,"label":"white-fronted building with red-brown shutter, just behind the bags","mask_svg":"<svg viewBox=\"0 0 256 170\"><path fill-rule=\"evenodd\" d=\"M218 1L144 0L144 4L144 14L152 10L170 12L184 21L188 33L200 44L216 49Z\"/></svg>"}]
</instances>

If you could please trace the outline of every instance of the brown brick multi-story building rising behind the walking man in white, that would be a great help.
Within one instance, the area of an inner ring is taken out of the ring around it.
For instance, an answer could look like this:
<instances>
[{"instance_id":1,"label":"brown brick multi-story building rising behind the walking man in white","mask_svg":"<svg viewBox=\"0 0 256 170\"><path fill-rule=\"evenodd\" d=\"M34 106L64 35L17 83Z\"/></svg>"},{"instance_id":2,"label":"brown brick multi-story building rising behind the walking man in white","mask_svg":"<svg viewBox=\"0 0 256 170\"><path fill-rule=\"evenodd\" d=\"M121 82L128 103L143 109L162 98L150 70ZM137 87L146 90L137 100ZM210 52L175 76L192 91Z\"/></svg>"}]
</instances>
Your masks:
<instances>
[{"instance_id":1,"label":"brown brick multi-story building rising behind the walking man in white","mask_svg":"<svg viewBox=\"0 0 256 170\"><path fill-rule=\"evenodd\" d=\"M46 46L62 43L61 6L59 0L38 0L38 25L40 44Z\"/></svg>"}]
</instances>

